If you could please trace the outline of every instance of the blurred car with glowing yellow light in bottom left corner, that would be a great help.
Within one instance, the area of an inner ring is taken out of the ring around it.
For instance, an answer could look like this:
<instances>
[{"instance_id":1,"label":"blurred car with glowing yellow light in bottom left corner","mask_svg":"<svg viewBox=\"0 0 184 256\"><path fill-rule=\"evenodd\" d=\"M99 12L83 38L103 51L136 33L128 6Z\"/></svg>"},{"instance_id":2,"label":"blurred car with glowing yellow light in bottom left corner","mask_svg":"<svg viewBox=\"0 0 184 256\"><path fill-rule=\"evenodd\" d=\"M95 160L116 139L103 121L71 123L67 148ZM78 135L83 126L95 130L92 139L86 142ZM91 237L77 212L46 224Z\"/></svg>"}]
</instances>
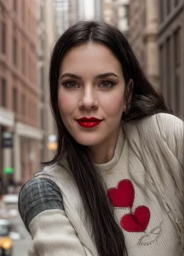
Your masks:
<instances>
[{"instance_id":1,"label":"blurred car with glowing yellow light in bottom left corner","mask_svg":"<svg viewBox=\"0 0 184 256\"><path fill-rule=\"evenodd\" d=\"M13 241L10 237L11 224L6 219L0 219L0 255L12 256Z\"/></svg>"}]
</instances>

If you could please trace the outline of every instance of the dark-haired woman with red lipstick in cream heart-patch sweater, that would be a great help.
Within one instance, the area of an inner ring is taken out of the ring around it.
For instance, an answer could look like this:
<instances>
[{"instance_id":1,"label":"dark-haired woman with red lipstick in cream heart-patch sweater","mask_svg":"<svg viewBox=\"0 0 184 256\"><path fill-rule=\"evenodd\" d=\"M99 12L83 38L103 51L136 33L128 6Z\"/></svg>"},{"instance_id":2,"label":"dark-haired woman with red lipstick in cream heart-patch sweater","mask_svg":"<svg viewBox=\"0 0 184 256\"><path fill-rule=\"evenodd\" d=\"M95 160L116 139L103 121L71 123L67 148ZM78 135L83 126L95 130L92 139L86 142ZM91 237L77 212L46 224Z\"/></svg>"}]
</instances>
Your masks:
<instances>
[{"instance_id":1,"label":"dark-haired woman with red lipstick in cream heart-patch sweater","mask_svg":"<svg viewBox=\"0 0 184 256\"><path fill-rule=\"evenodd\" d=\"M183 122L125 37L77 23L49 82L58 150L19 195L29 255L182 255Z\"/></svg>"}]
</instances>

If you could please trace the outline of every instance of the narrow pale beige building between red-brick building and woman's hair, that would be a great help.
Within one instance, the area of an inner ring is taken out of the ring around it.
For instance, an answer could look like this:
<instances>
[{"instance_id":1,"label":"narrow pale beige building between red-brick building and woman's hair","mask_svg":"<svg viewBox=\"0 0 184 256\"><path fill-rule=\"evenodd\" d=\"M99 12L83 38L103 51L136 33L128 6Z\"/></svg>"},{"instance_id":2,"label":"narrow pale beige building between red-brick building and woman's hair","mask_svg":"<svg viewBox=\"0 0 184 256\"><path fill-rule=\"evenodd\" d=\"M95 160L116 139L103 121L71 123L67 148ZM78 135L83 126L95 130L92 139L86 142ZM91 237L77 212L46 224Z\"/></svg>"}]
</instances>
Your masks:
<instances>
[{"instance_id":1,"label":"narrow pale beige building between red-brick building and woman's hair","mask_svg":"<svg viewBox=\"0 0 184 256\"><path fill-rule=\"evenodd\" d=\"M51 160L56 152L55 121L49 104L49 60L51 50L58 38L55 2L39 0L38 6L38 88L39 88L39 128L42 130L40 159Z\"/></svg>"}]
</instances>

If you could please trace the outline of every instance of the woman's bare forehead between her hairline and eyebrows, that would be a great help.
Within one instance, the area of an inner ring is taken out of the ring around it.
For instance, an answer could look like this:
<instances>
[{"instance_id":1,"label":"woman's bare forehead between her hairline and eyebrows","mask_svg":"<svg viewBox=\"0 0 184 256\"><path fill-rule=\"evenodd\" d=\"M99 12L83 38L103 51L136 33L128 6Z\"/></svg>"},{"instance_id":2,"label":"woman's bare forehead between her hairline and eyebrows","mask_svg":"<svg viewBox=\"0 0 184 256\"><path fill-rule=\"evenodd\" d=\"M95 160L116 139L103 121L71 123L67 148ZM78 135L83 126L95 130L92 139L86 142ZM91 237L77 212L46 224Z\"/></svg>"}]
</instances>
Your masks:
<instances>
[{"instance_id":1,"label":"woman's bare forehead between her hairline and eyebrows","mask_svg":"<svg viewBox=\"0 0 184 256\"><path fill-rule=\"evenodd\" d=\"M60 73L84 74L120 72L121 64L111 50L99 43L89 43L71 48L64 56Z\"/></svg>"}]
</instances>

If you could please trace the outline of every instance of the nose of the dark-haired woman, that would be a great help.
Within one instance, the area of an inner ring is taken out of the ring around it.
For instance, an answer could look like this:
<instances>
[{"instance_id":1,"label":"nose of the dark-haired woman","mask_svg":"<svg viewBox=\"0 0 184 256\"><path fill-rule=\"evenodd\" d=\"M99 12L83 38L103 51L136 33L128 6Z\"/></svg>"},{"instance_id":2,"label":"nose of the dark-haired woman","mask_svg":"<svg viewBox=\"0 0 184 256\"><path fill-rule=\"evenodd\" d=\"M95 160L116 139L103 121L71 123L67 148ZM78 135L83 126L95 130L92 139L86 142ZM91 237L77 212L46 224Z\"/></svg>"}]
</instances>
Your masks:
<instances>
[{"instance_id":1,"label":"nose of the dark-haired woman","mask_svg":"<svg viewBox=\"0 0 184 256\"><path fill-rule=\"evenodd\" d=\"M98 108L98 100L95 91L91 86L84 88L83 96L80 101L80 108L85 108L86 110Z\"/></svg>"}]
</instances>

